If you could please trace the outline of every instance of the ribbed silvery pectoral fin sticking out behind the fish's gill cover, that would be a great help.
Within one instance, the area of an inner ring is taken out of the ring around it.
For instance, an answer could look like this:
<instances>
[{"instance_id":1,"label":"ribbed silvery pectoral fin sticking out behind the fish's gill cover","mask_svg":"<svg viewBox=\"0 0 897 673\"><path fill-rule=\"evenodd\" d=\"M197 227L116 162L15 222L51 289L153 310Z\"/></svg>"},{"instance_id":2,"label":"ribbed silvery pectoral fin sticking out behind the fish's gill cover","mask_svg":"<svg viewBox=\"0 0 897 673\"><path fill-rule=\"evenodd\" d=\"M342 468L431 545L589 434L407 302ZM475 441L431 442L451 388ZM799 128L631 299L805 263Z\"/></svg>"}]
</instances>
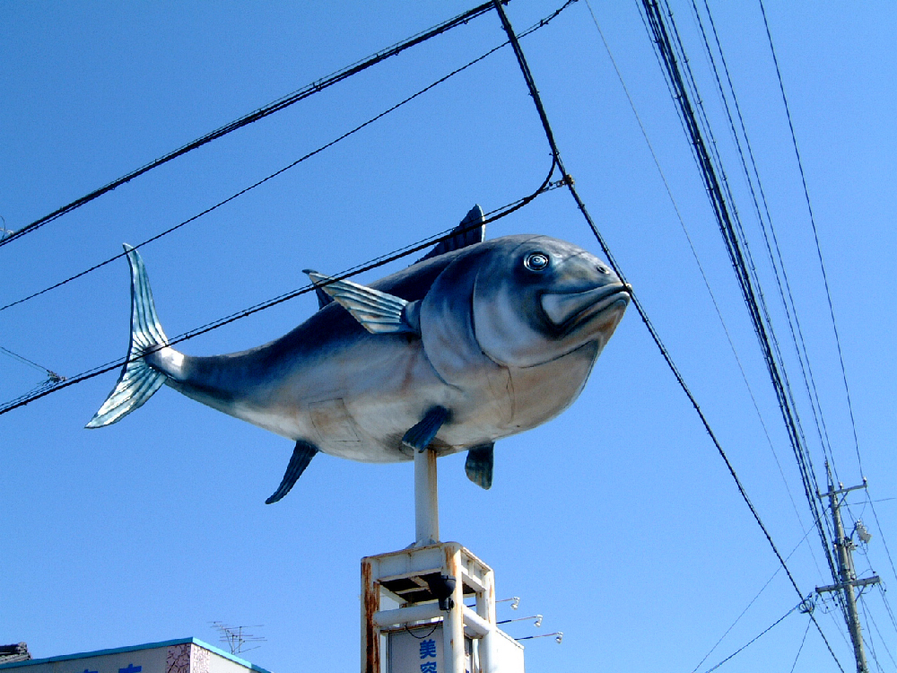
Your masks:
<instances>
[{"instance_id":1,"label":"ribbed silvery pectoral fin sticking out behind the fish's gill cover","mask_svg":"<svg viewBox=\"0 0 897 673\"><path fill-rule=\"evenodd\" d=\"M410 302L401 297L351 281L335 280L311 269L306 269L305 273L318 290L333 297L371 334L420 334L419 323L414 324L416 312L405 311Z\"/></svg>"}]
</instances>

